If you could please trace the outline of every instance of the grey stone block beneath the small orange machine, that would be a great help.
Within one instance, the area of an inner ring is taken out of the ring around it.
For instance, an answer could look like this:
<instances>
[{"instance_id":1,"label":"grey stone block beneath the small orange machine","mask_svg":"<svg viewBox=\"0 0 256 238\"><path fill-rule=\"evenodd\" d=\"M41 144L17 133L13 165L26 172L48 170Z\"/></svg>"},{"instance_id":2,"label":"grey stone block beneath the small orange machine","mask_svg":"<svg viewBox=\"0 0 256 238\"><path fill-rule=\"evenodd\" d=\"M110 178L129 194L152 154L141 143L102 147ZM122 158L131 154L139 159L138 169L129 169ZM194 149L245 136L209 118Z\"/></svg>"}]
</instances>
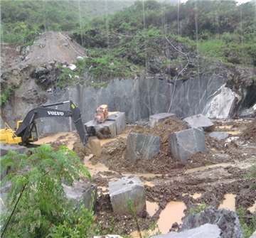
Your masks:
<instances>
[{"instance_id":1,"label":"grey stone block beneath the small orange machine","mask_svg":"<svg viewBox=\"0 0 256 238\"><path fill-rule=\"evenodd\" d=\"M117 136L117 122L116 121L104 121L103 123L97 123L92 120L85 123L88 131L95 131L99 139L113 138Z\"/></svg>"}]
</instances>

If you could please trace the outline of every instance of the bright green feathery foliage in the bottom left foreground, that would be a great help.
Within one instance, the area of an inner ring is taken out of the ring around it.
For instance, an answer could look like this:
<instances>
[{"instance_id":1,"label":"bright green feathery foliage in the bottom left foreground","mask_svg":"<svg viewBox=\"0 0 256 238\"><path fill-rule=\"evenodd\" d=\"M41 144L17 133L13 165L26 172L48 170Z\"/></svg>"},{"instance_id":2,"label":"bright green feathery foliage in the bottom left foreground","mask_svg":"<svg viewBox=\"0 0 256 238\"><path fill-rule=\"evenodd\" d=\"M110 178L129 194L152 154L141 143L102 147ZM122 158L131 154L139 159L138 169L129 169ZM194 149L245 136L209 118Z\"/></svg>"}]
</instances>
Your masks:
<instances>
[{"instance_id":1,"label":"bright green feathery foliage in the bottom left foreground","mask_svg":"<svg viewBox=\"0 0 256 238\"><path fill-rule=\"evenodd\" d=\"M78 229L85 229L84 232L90 230L85 223L90 221L92 214L85 209L75 210L65 198L62 186L63 182L72 185L80 176L90 178L90 173L75 152L65 146L55 151L43 145L31 149L30 153L26 155L10 151L1 158L1 173L11 168L1 182L11 181L6 213L1 217L2 229L21 195L5 236L46 237L49 229L53 229L54 234L55 230L59 230L55 227L71 227L74 223ZM82 220L79 223L80 215Z\"/></svg>"}]
</instances>

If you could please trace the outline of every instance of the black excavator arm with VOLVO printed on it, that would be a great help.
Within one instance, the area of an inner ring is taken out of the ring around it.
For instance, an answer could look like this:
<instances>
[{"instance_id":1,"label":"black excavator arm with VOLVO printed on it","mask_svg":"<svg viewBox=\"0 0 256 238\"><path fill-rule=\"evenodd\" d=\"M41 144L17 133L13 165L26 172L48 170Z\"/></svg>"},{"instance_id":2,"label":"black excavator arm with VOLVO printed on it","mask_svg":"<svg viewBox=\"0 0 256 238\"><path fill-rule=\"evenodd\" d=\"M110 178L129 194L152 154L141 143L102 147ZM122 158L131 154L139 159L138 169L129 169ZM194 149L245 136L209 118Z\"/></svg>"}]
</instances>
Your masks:
<instances>
[{"instance_id":1,"label":"black excavator arm with VOLVO printed on it","mask_svg":"<svg viewBox=\"0 0 256 238\"><path fill-rule=\"evenodd\" d=\"M70 109L59 110L51 108L62 104L70 104ZM45 117L71 117L73 119L73 123L75 124L75 128L78 131L82 144L87 144L89 136L87 134L87 129L84 124L82 124L80 109L76 107L72 101L47 104L41 107L36 107L28 112L16 131L16 135L21 136L22 144L28 144L29 138L31 138L31 132L36 129L35 120Z\"/></svg>"}]
</instances>

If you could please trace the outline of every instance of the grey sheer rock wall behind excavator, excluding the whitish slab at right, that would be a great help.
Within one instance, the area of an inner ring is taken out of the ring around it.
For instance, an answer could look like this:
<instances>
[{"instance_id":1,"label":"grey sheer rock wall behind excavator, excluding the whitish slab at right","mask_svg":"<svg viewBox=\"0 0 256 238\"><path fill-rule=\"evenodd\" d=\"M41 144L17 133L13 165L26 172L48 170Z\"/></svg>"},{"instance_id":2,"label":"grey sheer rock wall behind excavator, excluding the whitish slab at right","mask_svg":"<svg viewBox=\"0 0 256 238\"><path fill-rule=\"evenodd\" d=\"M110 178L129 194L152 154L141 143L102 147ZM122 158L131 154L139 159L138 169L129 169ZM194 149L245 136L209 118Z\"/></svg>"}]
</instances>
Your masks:
<instances>
[{"instance_id":1,"label":"grey sheer rock wall behind excavator, excluding the whitish slab at right","mask_svg":"<svg viewBox=\"0 0 256 238\"><path fill-rule=\"evenodd\" d=\"M73 100L80 107L84 122L93 119L98 105L108 104L110 112L125 112L127 121L133 123L139 119L148 118L151 114L167 112L170 104L171 113L178 117L206 113L206 105L223 84L225 84L225 77L220 75L186 81L178 80L174 92L174 82L141 77L135 80L115 79L107 87L97 89L76 85L66 88L65 91L45 93L41 97L44 98L45 103ZM38 86L34 86L38 90ZM22 93L16 92L12 105L6 106L4 114L8 121L22 119L30 109L36 107L37 103L33 102L33 99L24 100L30 88L33 88L31 82L26 89L19 89ZM68 118L61 121L40 119L38 124L41 134L70 129Z\"/></svg>"}]
</instances>

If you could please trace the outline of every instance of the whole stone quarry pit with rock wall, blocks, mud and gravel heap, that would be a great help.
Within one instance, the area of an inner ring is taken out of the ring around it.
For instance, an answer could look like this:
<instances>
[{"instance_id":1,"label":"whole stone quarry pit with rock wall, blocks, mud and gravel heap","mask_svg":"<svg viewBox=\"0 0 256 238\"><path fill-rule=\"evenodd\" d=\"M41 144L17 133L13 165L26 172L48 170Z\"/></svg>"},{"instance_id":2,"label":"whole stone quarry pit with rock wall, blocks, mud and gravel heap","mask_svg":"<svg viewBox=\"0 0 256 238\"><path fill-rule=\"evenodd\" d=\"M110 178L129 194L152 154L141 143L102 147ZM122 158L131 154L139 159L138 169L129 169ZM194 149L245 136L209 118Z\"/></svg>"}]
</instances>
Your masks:
<instances>
[{"instance_id":1,"label":"whole stone quarry pit with rock wall, blocks, mud and gravel heap","mask_svg":"<svg viewBox=\"0 0 256 238\"><path fill-rule=\"evenodd\" d=\"M65 198L76 207L92 207L102 230L112 227L116 234L134 238L139 237L138 226L145 237L154 238L243 237L240 207L248 224L256 212L256 182L247 176L256 163L255 91L245 80L254 70L246 69L240 77L240 68L213 62L194 77L192 60L186 77L175 83L140 75L115 77L104 87L75 83L61 89L53 87L57 65L77 72L75 60L85 57L84 48L65 33L48 32L25 51L26 56L1 75L3 84L16 91L1 108L0 124L10 121L14 128L14 121L41 104L71 99L79 105L82 121L93 134L86 147L68 119L61 124L38 119L36 144L66 145L78 153L92 180L73 185L63 181ZM81 77L95 80L87 73ZM237 87L233 77L245 88ZM110 112L99 124L93 118L103 103ZM10 149L28 150L1 145L1 156ZM0 190L1 211L10 186Z\"/></svg>"}]
</instances>

